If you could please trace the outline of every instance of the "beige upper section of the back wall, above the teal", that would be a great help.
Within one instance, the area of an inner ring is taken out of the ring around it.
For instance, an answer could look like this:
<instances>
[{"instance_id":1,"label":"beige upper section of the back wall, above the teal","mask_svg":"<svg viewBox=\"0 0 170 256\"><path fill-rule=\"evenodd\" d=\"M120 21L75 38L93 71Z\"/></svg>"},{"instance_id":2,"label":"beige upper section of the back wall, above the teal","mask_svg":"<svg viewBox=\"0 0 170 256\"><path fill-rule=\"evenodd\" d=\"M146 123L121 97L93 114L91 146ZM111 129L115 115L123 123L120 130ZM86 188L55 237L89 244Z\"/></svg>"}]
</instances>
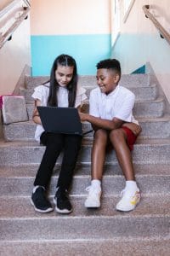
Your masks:
<instances>
[{"instance_id":1,"label":"beige upper section of the back wall, above the teal","mask_svg":"<svg viewBox=\"0 0 170 256\"><path fill-rule=\"evenodd\" d=\"M110 4L111 0L32 0L31 34L111 33Z\"/></svg>"}]
</instances>

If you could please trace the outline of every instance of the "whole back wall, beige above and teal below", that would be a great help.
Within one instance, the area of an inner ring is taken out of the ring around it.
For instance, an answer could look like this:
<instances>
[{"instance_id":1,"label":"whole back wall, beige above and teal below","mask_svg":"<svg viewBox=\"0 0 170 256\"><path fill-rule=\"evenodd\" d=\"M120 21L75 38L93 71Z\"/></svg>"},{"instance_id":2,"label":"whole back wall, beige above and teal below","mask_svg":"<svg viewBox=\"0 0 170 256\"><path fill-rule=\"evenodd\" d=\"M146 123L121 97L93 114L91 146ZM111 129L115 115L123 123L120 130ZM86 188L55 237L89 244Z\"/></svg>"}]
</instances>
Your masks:
<instances>
[{"instance_id":1,"label":"whole back wall, beige above and teal below","mask_svg":"<svg viewBox=\"0 0 170 256\"><path fill-rule=\"evenodd\" d=\"M96 73L111 56L111 0L32 0L32 75L48 75L54 56L66 53L78 73Z\"/></svg>"}]
</instances>

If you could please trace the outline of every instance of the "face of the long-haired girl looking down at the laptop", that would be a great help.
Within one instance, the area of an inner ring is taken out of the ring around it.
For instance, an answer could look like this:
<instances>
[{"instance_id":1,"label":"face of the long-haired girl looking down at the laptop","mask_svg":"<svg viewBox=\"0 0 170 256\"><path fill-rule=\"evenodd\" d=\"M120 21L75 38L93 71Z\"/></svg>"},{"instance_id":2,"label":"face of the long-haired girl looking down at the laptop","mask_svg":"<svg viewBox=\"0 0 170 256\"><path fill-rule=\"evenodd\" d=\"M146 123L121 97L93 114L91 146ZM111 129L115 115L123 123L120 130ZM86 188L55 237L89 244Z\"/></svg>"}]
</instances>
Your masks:
<instances>
[{"instance_id":1,"label":"face of the long-haired girl looking down at the laptop","mask_svg":"<svg viewBox=\"0 0 170 256\"><path fill-rule=\"evenodd\" d=\"M60 86L65 87L71 82L71 79L73 77L73 71L73 66L58 65L57 69L55 70L55 79L57 80L57 83Z\"/></svg>"}]
</instances>

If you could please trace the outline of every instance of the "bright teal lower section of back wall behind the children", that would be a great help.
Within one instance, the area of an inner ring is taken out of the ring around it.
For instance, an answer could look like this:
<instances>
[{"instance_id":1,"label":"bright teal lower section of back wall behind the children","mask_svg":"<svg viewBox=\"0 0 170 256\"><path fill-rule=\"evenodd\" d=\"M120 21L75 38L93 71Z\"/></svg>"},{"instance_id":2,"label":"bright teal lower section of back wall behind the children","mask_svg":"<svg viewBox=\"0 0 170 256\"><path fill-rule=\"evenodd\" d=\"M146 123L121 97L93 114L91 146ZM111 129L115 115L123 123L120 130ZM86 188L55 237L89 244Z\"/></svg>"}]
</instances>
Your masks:
<instances>
[{"instance_id":1,"label":"bright teal lower section of back wall behind the children","mask_svg":"<svg viewBox=\"0 0 170 256\"><path fill-rule=\"evenodd\" d=\"M63 53L76 59L79 74L94 75L96 63L111 57L111 34L31 36L32 75L49 75L54 58Z\"/></svg>"}]
</instances>

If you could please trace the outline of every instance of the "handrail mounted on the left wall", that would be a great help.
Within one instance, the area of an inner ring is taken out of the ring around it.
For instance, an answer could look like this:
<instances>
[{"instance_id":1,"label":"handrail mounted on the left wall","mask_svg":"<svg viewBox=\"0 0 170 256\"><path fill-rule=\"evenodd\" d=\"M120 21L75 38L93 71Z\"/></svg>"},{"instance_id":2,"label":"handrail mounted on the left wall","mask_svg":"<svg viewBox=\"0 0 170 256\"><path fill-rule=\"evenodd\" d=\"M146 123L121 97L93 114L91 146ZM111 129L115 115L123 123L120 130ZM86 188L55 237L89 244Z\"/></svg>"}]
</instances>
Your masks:
<instances>
[{"instance_id":1,"label":"handrail mounted on the left wall","mask_svg":"<svg viewBox=\"0 0 170 256\"><path fill-rule=\"evenodd\" d=\"M9 4L10 6L5 8L6 10L9 10L11 8L14 8L14 3L18 3L18 1L14 1L13 4ZM12 38L12 34L16 30L18 26L20 26L20 23L23 20L26 20L28 13L30 11L30 6L28 6L27 1L24 1L27 6L22 7L22 14L19 15L17 18L14 18L14 23L8 28L8 30L4 33L0 33L0 49L3 47L3 44L5 44L8 40ZM2 14L2 13L1 13ZM3 12L4 14L4 12ZM5 15L5 14L4 14ZM7 18L6 18L7 19Z\"/></svg>"}]
</instances>

